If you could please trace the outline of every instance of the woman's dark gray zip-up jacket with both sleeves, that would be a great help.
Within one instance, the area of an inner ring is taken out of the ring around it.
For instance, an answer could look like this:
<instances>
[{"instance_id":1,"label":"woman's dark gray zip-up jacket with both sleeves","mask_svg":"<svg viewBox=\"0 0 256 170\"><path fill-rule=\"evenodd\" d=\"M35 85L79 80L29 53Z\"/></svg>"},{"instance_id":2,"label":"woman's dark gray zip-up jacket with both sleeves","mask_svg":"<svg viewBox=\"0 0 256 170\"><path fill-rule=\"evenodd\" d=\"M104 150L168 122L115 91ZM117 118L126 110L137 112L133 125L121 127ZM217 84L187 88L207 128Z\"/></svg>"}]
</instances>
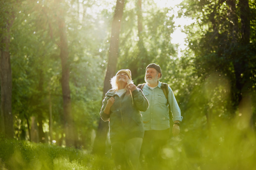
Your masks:
<instances>
[{"instance_id":1,"label":"woman's dark gray zip-up jacket with both sleeves","mask_svg":"<svg viewBox=\"0 0 256 170\"><path fill-rule=\"evenodd\" d=\"M126 91L121 97L115 94L115 90L111 89L107 92L103 100L103 106L100 116L103 121L109 120L110 141L126 141L134 137L144 136L144 126L140 111L148 109L148 100L137 88L130 94L130 90ZM108 99L115 98L114 104L110 108L110 114L104 113Z\"/></svg>"}]
</instances>

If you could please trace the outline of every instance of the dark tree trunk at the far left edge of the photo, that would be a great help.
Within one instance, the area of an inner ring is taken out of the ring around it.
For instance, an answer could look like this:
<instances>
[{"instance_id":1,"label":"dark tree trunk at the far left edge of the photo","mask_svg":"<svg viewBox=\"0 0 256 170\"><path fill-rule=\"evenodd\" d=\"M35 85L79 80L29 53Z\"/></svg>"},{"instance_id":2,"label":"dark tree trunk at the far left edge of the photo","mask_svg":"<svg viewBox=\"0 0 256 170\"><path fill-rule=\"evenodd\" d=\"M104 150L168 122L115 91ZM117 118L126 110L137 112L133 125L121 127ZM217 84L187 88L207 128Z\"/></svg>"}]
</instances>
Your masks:
<instances>
[{"instance_id":1,"label":"dark tree trunk at the far left edge of the photo","mask_svg":"<svg viewBox=\"0 0 256 170\"><path fill-rule=\"evenodd\" d=\"M10 61L10 30L14 21L14 14L11 13L10 19L7 19L6 26L2 28L2 44L0 58L0 79L1 79L1 118L2 132L6 137L14 137L13 117L12 117L12 70Z\"/></svg>"}]
</instances>

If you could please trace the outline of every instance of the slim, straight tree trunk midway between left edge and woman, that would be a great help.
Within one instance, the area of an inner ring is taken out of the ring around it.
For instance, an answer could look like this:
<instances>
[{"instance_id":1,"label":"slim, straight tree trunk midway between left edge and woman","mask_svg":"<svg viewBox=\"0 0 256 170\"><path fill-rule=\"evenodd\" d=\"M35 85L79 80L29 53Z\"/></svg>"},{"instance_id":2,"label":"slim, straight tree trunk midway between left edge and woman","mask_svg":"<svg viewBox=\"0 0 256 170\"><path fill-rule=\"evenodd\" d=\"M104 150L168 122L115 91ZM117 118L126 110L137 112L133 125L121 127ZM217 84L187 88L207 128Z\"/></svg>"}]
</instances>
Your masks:
<instances>
[{"instance_id":1,"label":"slim, straight tree trunk midway between left edge and woman","mask_svg":"<svg viewBox=\"0 0 256 170\"><path fill-rule=\"evenodd\" d=\"M58 17L58 26L60 33L60 59L62 66L62 97L64 111L64 128L66 146L74 146L73 119L71 115L71 97L69 88L69 56L68 56L68 40L66 33L66 24L63 18L63 11L60 10Z\"/></svg>"}]
</instances>

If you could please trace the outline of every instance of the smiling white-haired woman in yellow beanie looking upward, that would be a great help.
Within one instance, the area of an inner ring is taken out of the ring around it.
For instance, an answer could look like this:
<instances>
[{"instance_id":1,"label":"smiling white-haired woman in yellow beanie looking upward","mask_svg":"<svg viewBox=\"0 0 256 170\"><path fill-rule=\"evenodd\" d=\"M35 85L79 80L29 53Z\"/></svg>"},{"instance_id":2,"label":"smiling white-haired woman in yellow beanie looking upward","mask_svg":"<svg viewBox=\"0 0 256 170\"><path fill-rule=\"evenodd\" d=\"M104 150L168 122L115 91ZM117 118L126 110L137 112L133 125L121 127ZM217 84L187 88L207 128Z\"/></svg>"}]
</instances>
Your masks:
<instances>
[{"instance_id":1,"label":"smiling white-haired woman in yellow beanie looking upward","mask_svg":"<svg viewBox=\"0 0 256 170\"><path fill-rule=\"evenodd\" d=\"M148 109L148 100L133 84L129 69L119 70L111 79L111 85L100 115L103 121L109 121L112 157L117 169L127 165L137 169L144 136L140 111Z\"/></svg>"}]
</instances>

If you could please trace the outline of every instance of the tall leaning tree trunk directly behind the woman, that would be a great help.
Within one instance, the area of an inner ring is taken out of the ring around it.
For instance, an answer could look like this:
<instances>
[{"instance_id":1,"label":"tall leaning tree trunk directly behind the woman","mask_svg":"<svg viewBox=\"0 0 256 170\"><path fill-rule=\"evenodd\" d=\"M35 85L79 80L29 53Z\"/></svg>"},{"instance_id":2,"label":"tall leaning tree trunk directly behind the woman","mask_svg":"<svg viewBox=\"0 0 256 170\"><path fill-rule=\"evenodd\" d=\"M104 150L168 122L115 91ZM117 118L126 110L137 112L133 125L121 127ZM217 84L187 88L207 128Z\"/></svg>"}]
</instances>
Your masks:
<instances>
[{"instance_id":1,"label":"tall leaning tree trunk directly behind the woman","mask_svg":"<svg viewBox=\"0 0 256 170\"><path fill-rule=\"evenodd\" d=\"M124 9L124 0L117 0L116 2L116 10L114 14L114 19L112 23L112 31L110 38L110 48L109 48L109 56L108 56L108 65L107 65L107 73L105 75L104 88L103 88L103 99L108 90L111 89L111 84L109 83L110 79L116 73L117 66L117 58L119 55L119 33L121 29L121 20L123 17L123 9ZM93 153L105 155L105 141L108 132L108 122L104 122L103 120L99 121L99 127L96 133L96 138L93 145Z\"/></svg>"}]
</instances>

